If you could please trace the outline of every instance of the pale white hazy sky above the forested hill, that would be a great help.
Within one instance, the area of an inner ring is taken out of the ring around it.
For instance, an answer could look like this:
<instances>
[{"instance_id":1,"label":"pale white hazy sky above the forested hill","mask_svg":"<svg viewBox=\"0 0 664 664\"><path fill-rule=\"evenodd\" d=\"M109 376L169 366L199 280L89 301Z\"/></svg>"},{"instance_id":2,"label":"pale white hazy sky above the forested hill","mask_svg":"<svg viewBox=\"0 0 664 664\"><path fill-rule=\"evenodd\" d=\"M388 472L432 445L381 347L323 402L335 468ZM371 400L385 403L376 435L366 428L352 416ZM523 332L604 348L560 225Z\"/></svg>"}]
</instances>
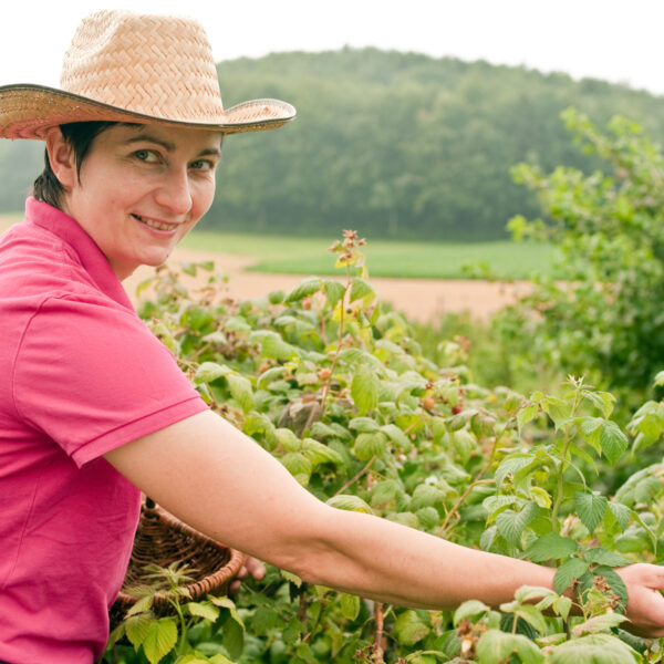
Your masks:
<instances>
[{"instance_id":1,"label":"pale white hazy sky above the forested hill","mask_svg":"<svg viewBox=\"0 0 664 664\"><path fill-rule=\"evenodd\" d=\"M62 55L81 18L129 7L198 19L218 61L373 45L525 64L664 94L662 0L7 0L0 84L56 86Z\"/></svg>"}]
</instances>

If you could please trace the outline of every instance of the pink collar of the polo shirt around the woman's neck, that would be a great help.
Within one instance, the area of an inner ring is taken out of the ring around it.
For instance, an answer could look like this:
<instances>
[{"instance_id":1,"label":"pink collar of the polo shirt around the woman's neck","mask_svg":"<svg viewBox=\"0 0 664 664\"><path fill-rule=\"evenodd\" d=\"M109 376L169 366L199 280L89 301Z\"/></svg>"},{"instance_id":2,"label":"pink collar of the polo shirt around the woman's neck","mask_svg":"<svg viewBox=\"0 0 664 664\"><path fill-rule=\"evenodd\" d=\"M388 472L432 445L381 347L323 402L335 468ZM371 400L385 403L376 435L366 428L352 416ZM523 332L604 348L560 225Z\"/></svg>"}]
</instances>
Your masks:
<instances>
[{"instance_id":1,"label":"pink collar of the polo shirt around the woman's neck","mask_svg":"<svg viewBox=\"0 0 664 664\"><path fill-rule=\"evenodd\" d=\"M66 242L98 289L132 311L134 307L102 250L81 225L62 210L30 196L25 200L25 221L44 228Z\"/></svg>"}]
</instances>

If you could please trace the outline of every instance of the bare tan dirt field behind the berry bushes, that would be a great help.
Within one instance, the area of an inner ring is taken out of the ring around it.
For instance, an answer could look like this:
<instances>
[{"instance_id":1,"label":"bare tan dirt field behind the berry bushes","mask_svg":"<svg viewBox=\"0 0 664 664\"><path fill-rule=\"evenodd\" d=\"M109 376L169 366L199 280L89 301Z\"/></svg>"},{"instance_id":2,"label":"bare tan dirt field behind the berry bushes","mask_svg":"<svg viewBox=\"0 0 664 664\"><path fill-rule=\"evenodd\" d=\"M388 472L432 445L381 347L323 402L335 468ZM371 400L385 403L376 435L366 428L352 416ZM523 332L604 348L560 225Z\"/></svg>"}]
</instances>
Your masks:
<instances>
[{"instance_id":1,"label":"bare tan dirt field behind the berry bushes","mask_svg":"<svg viewBox=\"0 0 664 664\"><path fill-rule=\"evenodd\" d=\"M169 262L204 260L214 260L217 269L229 276L228 294L239 300L261 298L279 289L288 292L303 279L300 274L248 272L246 268L251 264L251 259L179 248ZM124 284L131 297L134 295L136 286L151 272L151 268L142 267L125 280ZM527 282L502 284L479 280L381 278L372 278L371 282L381 300L392 302L396 310L421 322L437 321L443 313L464 311L468 311L478 321L486 321L528 290Z\"/></svg>"}]
</instances>

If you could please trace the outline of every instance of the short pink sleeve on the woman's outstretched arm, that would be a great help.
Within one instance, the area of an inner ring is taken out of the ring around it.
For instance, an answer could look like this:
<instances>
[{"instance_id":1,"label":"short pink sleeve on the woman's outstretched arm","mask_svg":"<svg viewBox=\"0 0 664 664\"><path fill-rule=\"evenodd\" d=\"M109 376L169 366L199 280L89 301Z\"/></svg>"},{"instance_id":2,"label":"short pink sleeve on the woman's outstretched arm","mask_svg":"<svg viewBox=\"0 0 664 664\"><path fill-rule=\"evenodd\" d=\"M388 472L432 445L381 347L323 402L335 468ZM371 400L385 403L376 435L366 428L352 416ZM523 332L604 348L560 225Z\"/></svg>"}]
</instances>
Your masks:
<instances>
[{"instance_id":1,"label":"short pink sleeve on the woman's outstretched arm","mask_svg":"<svg viewBox=\"0 0 664 664\"><path fill-rule=\"evenodd\" d=\"M79 466L207 408L135 312L94 297L42 303L12 387L19 416Z\"/></svg>"}]
</instances>

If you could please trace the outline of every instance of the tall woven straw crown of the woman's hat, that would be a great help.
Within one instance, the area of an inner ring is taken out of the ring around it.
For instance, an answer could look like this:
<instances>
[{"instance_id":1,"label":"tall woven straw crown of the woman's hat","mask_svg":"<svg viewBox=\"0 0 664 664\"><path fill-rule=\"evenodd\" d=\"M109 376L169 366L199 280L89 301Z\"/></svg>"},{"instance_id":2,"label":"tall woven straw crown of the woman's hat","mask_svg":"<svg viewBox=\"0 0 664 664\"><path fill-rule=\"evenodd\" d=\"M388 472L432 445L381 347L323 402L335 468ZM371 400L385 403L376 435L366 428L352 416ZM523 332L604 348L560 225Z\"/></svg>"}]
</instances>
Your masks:
<instances>
[{"instance_id":1,"label":"tall woven straw crown of the woman's hat","mask_svg":"<svg viewBox=\"0 0 664 664\"><path fill-rule=\"evenodd\" d=\"M225 120L211 48L203 25L193 19L95 12L72 39L60 85L155 118Z\"/></svg>"}]
</instances>

